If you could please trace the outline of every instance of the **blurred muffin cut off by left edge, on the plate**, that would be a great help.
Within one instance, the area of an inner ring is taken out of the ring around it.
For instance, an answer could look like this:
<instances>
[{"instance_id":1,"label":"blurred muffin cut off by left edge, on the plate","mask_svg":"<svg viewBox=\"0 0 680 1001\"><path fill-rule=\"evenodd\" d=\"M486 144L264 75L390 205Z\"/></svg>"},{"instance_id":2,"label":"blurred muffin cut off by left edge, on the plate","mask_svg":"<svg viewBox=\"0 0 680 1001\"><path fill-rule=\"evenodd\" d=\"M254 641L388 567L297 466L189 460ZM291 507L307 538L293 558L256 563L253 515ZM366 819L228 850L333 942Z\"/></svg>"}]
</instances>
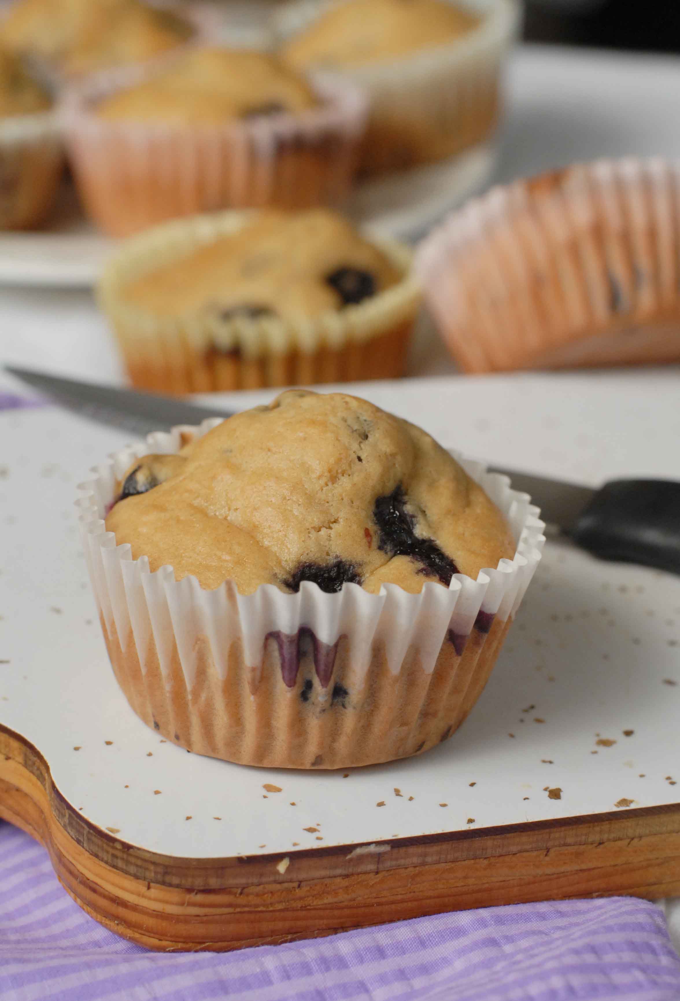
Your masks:
<instances>
[{"instance_id":1,"label":"blurred muffin cut off by left edge, on the plate","mask_svg":"<svg viewBox=\"0 0 680 1001\"><path fill-rule=\"evenodd\" d=\"M50 95L18 56L0 50L0 228L43 222L62 166Z\"/></svg>"}]
</instances>

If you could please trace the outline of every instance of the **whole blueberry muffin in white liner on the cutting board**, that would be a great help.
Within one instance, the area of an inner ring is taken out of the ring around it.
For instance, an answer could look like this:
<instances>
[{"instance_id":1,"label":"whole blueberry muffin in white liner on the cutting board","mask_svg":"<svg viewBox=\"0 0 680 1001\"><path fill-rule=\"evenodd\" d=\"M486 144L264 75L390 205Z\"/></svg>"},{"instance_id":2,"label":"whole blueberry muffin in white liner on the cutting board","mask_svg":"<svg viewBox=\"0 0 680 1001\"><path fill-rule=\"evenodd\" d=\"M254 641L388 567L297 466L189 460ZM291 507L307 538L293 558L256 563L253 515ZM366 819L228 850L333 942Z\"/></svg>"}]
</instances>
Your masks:
<instances>
[{"instance_id":1,"label":"whole blueberry muffin in white liner on the cutting board","mask_svg":"<svg viewBox=\"0 0 680 1001\"><path fill-rule=\"evenodd\" d=\"M264 425L260 462L250 436ZM201 469L217 453L206 490ZM267 767L374 764L450 737L489 678L544 543L526 494L460 462L363 400L291 390L225 422L151 434L97 466L81 487L84 549L134 711L191 751ZM190 511L177 507L187 489ZM208 494L229 509L228 524L207 517ZM343 510L319 518L324 497L338 496ZM165 539L164 522L174 526Z\"/></svg>"}]
</instances>

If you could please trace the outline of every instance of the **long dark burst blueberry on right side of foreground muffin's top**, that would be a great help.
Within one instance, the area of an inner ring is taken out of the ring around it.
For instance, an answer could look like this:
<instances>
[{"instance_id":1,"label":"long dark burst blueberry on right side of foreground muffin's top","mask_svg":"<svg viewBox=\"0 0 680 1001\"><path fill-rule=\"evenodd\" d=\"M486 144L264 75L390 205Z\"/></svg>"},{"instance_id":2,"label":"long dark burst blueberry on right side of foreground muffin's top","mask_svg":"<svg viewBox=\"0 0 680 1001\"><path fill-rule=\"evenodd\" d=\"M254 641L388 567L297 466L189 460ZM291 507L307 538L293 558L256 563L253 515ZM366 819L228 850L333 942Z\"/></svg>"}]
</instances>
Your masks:
<instances>
[{"instance_id":1,"label":"long dark burst blueberry on right side of foreground muffin's top","mask_svg":"<svg viewBox=\"0 0 680 1001\"><path fill-rule=\"evenodd\" d=\"M416 520L406 511L404 487L398 483L391 493L378 497L373 509L373 520L378 526L378 549L391 557L410 557L421 565L419 573L436 577L449 585L458 568L450 557L439 549L433 539L421 539L415 534Z\"/></svg>"}]
</instances>

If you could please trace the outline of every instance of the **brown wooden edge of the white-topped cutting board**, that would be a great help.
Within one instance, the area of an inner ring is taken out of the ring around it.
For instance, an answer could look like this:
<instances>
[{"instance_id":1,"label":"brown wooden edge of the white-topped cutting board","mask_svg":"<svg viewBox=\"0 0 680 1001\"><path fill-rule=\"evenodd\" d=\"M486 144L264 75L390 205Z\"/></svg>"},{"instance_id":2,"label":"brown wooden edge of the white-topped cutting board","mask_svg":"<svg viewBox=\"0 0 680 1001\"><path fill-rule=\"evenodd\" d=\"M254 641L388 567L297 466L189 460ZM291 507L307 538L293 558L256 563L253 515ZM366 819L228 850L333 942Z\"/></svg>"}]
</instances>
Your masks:
<instances>
[{"instance_id":1,"label":"brown wooden edge of the white-topped cutting board","mask_svg":"<svg viewBox=\"0 0 680 1001\"><path fill-rule=\"evenodd\" d=\"M473 907L680 894L678 803L288 856L159 855L89 823L37 748L1 725L0 817L47 848L88 914L166 951L274 944Z\"/></svg>"}]
</instances>

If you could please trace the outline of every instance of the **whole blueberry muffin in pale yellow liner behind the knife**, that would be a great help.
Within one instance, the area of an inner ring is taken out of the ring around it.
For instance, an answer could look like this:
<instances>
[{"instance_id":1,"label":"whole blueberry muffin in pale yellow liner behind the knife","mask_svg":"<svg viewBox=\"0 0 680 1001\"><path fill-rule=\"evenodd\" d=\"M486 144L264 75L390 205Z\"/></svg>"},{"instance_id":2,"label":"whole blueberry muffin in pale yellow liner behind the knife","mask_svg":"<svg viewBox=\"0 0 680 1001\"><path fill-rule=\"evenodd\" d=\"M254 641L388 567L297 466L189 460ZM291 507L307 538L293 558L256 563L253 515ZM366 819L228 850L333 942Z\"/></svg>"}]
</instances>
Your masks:
<instances>
[{"instance_id":1,"label":"whole blueberry muffin in pale yellow liner behind the knife","mask_svg":"<svg viewBox=\"0 0 680 1001\"><path fill-rule=\"evenodd\" d=\"M397 376L419 301L410 259L328 209L225 213L130 240L100 300L140 388Z\"/></svg>"}]
</instances>

